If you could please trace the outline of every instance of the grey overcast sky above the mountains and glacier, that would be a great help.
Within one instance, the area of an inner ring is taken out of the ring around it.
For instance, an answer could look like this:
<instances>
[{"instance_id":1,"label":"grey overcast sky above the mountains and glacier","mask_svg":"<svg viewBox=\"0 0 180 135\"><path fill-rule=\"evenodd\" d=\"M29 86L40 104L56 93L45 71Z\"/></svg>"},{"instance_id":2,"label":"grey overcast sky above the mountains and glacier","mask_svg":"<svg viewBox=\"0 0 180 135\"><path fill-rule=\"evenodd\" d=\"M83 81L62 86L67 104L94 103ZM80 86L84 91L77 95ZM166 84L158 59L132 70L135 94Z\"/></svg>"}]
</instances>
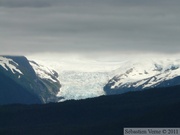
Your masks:
<instances>
[{"instance_id":1,"label":"grey overcast sky above the mountains and glacier","mask_svg":"<svg viewBox=\"0 0 180 135\"><path fill-rule=\"evenodd\" d=\"M0 0L0 53L180 51L180 0Z\"/></svg>"}]
</instances>

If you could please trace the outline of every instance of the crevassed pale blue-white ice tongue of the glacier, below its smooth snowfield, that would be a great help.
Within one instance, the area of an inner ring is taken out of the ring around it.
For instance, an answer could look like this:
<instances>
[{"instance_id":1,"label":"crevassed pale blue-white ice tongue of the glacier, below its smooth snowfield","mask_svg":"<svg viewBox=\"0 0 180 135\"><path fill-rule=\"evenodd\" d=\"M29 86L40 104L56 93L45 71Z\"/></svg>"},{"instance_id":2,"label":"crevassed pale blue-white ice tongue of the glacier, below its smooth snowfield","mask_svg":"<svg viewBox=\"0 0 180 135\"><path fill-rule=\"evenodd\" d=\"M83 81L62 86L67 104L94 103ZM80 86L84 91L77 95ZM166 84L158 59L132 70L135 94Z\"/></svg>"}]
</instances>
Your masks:
<instances>
[{"instance_id":1,"label":"crevassed pale blue-white ice tongue of the glacier, below its smooth snowfield","mask_svg":"<svg viewBox=\"0 0 180 135\"><path fill-rule=\"evenodd\" d=\"M60 72L62 88L57 96L63 97L61 101L101 96L105 94L103 87L108 79L107 72Z\"/></svg>"}]
</instances>

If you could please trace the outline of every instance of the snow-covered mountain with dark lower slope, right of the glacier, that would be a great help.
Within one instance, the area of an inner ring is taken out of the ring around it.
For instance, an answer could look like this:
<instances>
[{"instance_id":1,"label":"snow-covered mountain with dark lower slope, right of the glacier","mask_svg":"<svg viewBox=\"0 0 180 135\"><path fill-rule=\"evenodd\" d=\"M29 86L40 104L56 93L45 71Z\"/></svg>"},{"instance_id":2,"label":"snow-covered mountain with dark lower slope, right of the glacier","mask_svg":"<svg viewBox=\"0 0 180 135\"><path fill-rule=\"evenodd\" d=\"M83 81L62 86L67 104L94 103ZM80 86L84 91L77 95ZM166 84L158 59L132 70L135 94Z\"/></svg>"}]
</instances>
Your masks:
<instances>
[{"instance_id":1,"label":"snow-covered mountain with dark lower slope, right of the glacier","mask_svg":"<svg viewBox=\"0 0 180 135\"><path fill-rule=\"evenodd\" d=\"M106 94L180 85L180 59L128 60L112 74Z\"/></svg>"}]
</instances>

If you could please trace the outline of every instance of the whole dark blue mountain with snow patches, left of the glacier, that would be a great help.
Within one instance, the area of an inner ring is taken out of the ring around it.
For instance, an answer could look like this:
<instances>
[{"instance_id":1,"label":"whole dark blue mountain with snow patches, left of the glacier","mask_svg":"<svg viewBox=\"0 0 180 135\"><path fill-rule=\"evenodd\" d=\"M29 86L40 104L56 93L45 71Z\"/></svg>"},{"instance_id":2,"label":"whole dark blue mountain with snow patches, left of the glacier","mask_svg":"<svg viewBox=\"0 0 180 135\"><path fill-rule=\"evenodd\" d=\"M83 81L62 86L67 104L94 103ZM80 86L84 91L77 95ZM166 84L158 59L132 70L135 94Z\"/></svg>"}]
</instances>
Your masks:
<instances>
[{"instance_id":1,"label":"whole dark blue mountain with snow patches, left of the glacier","mask_svg":"<svg viewBox=\"0 0 180 135\"><path fill-rule=\"evenodd\" d=\"M48 72L24 56L0 56L0 104L48 103L58 101L58 74ZM38 73L44 73L42 76Z\"/></svg>"}]
</instances>

